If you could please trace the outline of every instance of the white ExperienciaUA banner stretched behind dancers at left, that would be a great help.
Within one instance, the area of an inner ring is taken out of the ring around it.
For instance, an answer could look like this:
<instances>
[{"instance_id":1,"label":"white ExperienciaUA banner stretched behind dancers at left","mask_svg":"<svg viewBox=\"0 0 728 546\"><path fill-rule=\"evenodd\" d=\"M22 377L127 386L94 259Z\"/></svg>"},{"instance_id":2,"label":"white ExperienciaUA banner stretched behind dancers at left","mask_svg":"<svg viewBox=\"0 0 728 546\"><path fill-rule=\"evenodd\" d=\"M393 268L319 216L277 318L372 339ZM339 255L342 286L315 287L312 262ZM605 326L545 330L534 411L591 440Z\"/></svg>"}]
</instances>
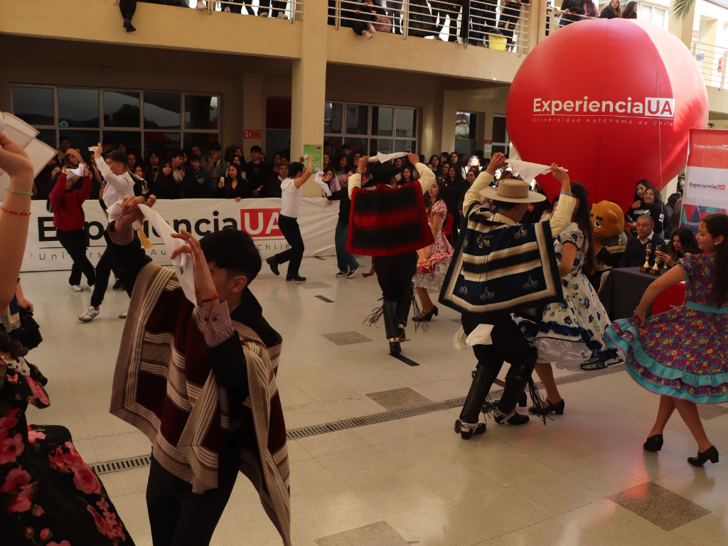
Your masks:
<instances>
[{"instance_id":1,"label":"white ExperienciaUA banner stretched behind dancers at left","mask_svg":"<svg viewBox=\"0 0 728 546\"><path fill-rule=\"evenodd\" d=\"M31 223L21 272L59 271L71 269L73 261L55 237L53 214L45 208L45 201L31 202ZM98 201L84 202L86 232L89 236L87 255L96 264L106 248L103 231L106 229L106 215ZM197 238L225 228L242 229L250 234L258 245L261 258L265 259L290 248L278 228L280 199L160 199L154 210L179 231L186 229ZM331 256L336 253L333 236L339 221L339 202L328 205L321 197L304 197L298 214L298 225L304 239L307 256ZM153 248L146 249L157 264L170 265L164 242L149 225L149 240Z\"/></svg>"}]
</instances>

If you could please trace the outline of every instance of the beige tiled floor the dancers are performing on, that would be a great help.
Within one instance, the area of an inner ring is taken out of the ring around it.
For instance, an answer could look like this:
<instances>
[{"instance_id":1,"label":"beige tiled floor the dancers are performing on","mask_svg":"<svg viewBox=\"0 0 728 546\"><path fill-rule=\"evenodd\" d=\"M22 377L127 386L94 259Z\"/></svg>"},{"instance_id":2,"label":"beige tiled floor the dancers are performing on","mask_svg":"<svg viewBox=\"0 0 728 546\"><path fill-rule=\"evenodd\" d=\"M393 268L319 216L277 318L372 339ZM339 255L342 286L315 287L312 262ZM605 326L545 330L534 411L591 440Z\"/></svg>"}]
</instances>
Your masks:
<instances>
[{"instance_id":1,"label":"beige tiled floor the dancers are performing on","mask_svg":"<svg viewBox=\"0 0 728 546\"><path fill-rule=\"evenodd\" d=\"M284 338L278 385L289 429L462 397L475 360L457 352L454 312L387 355L384 331L362 324L381 297L376 278L336 279L336 261L305 259L296 285L264 271L253 283ZM149 454L140 432L108 414L128 303L108 290L101 314L77 316L89 292L64 272L23 274L44 342L29 357L50 380L52 405L31 422L64 424L87 462ZM323 296L327 301L317 298ZM556 376L573 371L555 369ZM499 387L496 387L499 388ZM543 426L496 426L465 441L459 408L288 443L296 546L728 546L727 462L694 468L677 414L660 453L642 450L657 410L626 373L564 384L566 412ZM728 408L701 408L728 451ZM127 529L151 546L148 469L102 475ZM253 486L240 475L213 545L279 545Z\"/></svg>"}]
</instances>

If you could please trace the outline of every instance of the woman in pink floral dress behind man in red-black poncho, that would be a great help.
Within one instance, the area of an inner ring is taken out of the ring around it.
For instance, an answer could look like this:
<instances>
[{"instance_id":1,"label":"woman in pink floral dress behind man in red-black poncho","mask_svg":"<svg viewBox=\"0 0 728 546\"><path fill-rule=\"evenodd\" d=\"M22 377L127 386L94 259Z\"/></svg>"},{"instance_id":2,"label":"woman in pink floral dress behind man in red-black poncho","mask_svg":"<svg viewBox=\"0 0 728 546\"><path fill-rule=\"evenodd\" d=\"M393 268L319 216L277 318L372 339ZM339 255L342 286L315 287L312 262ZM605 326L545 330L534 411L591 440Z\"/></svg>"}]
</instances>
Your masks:
<instances>
[{"instance_id":1,"label":"woman in pink floral dress behind man in red-black poncho","mask_svg":"<svg viewBox=\"0 0 728 546\"><path fill-rule=\"evenodd\" d=\"M422 304L422 312L419 316L412 317L412 320L429 323L433 314L437 316L438 307L432 303L427 289L440 290L445 274L448 272L448 266L450 266L453 248L443 234L443 225L448 220L445 184L439 180L433 182L427 195L430 202L427 207L427 221L430 223L435 243L417 251L417 273L413 282L420 304Z\"/></svg>"}]
</instances>

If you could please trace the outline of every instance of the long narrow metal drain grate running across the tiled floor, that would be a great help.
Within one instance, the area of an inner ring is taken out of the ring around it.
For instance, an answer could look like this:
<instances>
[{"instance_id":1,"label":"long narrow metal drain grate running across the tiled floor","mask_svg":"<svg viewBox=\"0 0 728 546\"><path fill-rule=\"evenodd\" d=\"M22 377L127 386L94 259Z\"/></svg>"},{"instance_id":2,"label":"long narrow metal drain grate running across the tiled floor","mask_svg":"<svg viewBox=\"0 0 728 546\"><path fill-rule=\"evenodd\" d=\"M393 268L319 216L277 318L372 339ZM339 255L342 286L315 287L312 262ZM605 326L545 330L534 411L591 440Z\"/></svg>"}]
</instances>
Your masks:
<instances>
[{"instance_id":1,"label":"long narrow metal drain grate running across the tiled floor","mask_svg":"<svg viewBox=\"0 0 728 546\"><path fill-rule=\"evenodd\" d=\"M576 381L585 381L585 379L593 379L594 377L606 376L611 373L625 371L627 367L624 364L616 364L609 366L603 370L585 371L582 373L574 373L571 376L560 377L556 379L556 384L563 385L566 383L574 383ZM541 383L537 383L536 387L543 388ZM491 397L498 398L502 395L503 389L491 391ZM355 417L353 419L344 419L342 421L334 421L332 423L314 424L312 427L304 427L301 429L289 430L288 439L298 440L298 438L309 438L309 436L317 436L326 434L327 432L336 432L337 430L347 430L356 427L365 427L368 424L386 423L388 421L396 421L397 419L405 419L406 417L414 417L417 415L430 414L433 411L443 411L451 408L459 408L465 403L465 397L453 398L452 400L444 400L443 402L434 402L431 404L418 405L414 408L406 408L396 411L387 411L383 414L366 415ZM119 461L99 462L90 464L90 467L97 474L106 474L108 472L118 472L119 470L131 470L133 468L148 467L151 464L151 455L130 457L129 459L120 459Z\"/></svg>"}]
</instances>

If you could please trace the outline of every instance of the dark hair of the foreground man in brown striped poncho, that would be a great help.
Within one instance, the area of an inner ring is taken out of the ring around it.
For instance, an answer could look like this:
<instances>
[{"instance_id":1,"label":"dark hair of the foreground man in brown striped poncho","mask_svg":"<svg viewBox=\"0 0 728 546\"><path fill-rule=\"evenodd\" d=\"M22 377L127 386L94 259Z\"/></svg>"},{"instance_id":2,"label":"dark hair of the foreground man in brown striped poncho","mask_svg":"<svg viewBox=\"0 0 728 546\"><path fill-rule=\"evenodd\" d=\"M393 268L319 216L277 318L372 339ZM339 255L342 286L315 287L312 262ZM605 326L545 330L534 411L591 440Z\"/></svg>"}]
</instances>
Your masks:
<instances>
[{"instance_id":1,"label":"dark hair of the foreground man in brown striped poncho","mask_svg":"<svg viewBox=\"0 0 728 546\"><path fill-rule=\"evenodd\" d=\"M199 240L199 246L208 262L215 262L215 267L225 269L227 277L245 275L248 285L261 271L261 254L256 248L253 238L238 229L223 229L205 235Z\"/></svg>"}]
</instances>

